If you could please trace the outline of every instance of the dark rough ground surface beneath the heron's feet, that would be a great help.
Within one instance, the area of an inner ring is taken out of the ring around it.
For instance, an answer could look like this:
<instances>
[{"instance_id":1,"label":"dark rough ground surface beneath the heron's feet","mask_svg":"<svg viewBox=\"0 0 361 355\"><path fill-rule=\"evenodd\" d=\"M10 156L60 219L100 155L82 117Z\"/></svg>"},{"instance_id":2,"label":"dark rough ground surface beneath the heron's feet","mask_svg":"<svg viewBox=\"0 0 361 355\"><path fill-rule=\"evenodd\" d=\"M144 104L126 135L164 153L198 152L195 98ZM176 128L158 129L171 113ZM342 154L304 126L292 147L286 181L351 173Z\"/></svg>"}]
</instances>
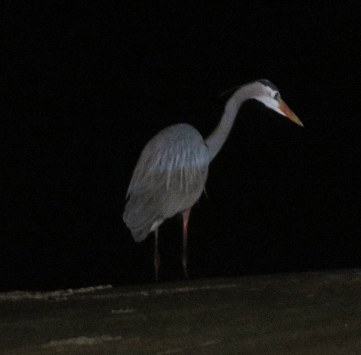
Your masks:
<instances>
[{"instance_id":1,"label":"dark rough ground surface beneath the heron's feet","mask_svg":"<svg viewBox=\"0 0 361 355\"><path fill-rule=\"evenodd\" d=\"M0 354L361 354L361 271L0 294Z\"/></svg>"}]
</instances>

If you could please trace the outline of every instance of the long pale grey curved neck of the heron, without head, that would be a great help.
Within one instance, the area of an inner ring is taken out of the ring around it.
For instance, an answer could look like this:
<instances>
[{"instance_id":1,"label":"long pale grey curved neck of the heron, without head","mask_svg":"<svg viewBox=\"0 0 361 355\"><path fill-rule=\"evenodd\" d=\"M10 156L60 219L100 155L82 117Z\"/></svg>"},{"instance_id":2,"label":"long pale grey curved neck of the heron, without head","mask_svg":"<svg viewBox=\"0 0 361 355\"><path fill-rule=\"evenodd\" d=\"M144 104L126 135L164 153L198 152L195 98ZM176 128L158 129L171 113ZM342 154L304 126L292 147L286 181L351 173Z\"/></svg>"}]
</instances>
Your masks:
<instances>
[{"instance_id":1,"label":"long pale grey curved neck of the heron, without head","mask_svg":"<svg viewBox=\"0 0 361 355\"><path fill-rule=\"evenodd\" d=\"M256 83L252 83L242 86L227 101L221 121L209 137L205 139L205 143L209 150L210 160L213 160L219 150L221 150L242 103L255 97L259 93L260 88L255 84Z\"/></svg>"}]
</instances>

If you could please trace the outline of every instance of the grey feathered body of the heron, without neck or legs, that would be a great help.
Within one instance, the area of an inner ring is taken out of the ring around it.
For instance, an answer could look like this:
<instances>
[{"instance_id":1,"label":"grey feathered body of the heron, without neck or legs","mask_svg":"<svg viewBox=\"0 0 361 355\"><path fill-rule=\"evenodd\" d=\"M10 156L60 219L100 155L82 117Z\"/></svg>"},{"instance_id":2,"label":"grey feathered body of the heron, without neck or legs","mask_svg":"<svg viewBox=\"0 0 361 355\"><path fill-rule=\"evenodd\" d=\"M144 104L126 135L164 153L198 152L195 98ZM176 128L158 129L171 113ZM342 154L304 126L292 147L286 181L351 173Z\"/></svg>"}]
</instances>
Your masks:
<instances>
[{"instance_id":1,"label":"grey feathered body of the heron, without neck or legs","mask_svg":"<svg viewBox=\"0 0 361 355\"><path fill-rule=\"evenodd\" d=\"M147 143L134 169L123 214L136 241L198 200L208 164L208 148L190 125L165 128Z\"/></svg>"}]
</instances>

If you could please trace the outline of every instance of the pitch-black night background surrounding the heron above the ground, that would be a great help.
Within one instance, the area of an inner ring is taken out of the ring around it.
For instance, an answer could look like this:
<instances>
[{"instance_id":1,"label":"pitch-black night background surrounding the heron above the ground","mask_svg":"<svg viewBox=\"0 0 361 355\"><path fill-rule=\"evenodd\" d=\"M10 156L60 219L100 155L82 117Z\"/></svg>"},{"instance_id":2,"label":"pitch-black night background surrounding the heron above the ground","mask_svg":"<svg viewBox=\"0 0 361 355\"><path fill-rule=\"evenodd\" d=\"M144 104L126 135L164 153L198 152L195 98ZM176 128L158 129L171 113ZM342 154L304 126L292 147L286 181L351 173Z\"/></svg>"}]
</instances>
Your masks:
<instances>
[{"instance_id":1,"label":"pitch-black night background surrounding the heron above the ground","mask_svg":"<svg viewBox=\"0 0 361 355\"><path fill-rule=\"evenodd\" d=\"M0 288L153 280L121 215L145 143L207 136L230 94L271 80L304 128L243 105L191 213L191 278L360 267L358 12L324 4L1 4ZM181 221L160 228L181 279Z\"/></svg>"}]
</instances>

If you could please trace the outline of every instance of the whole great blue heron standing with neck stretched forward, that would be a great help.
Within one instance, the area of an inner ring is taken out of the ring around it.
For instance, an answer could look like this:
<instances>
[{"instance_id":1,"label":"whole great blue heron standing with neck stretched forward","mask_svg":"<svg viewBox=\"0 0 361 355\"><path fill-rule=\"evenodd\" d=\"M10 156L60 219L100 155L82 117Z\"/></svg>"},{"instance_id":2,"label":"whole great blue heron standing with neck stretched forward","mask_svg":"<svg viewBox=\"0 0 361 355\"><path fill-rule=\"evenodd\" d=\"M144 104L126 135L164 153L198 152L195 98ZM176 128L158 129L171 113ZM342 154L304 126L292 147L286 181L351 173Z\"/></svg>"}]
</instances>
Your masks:
<instances>
[{"instance_id":1,"label":"whole great blue heron standing with neck stretched forward","mask_svg":"<svg viewBox=\"0 0 361 355\"><path fill-rule=\"evenodd\" d=\"M187 226L190 211L199 199L210 161L225 142L243 102L256 99L265 106L303 126L269 80L241 86L227 101L221 121L205 140L184 123L162 129L143 148L127 191L129 200L123 220L136 242L155 232L154 266L158 280L160 258L158 227L165 219L183 214L183 269L187 278Z\"/></svg>"}]
</instances>

